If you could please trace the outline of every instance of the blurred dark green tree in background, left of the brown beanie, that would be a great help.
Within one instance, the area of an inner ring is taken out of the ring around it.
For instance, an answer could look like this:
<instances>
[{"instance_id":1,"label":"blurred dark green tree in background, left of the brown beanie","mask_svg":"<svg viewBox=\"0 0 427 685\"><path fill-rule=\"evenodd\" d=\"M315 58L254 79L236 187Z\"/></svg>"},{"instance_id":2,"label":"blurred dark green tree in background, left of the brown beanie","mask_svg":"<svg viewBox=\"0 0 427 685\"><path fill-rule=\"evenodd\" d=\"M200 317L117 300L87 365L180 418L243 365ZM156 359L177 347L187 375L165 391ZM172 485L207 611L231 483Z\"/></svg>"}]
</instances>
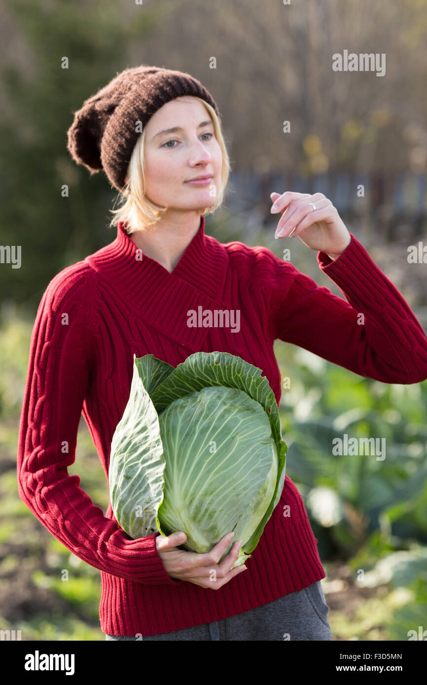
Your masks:
<instances>
[{"instance_id":1,"label":"blurred dark green tree in background, left of the brown beanie","mask_svg":"<svg viewBox=\"0 0 427 685\"><path fill-rule=\"evenodd\" d=\"M86 98L133 66L127 44L152 30L158 12L152 5L130 17L121 3L101 0L16 0L3 8L1 243L21 245L22 264L2 265L1 300L34 309L58 271L114 240L108 209L117 191L103 173L90 177L75 164L66 132Z\"/></svg>"}]
</instances>

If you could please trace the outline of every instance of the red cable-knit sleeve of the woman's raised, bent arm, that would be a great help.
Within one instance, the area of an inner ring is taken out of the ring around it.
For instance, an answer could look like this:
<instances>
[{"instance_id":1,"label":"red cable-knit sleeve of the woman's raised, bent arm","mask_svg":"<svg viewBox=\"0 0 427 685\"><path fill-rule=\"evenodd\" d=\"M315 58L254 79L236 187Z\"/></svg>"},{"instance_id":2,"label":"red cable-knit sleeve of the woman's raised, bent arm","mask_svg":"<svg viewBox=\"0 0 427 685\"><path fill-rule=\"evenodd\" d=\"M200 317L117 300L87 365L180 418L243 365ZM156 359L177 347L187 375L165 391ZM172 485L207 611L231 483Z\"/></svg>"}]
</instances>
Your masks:
<instances>
[{"instance_id":1,"label":"red cable-knit sleeve of the woman's raised, bent arm","mask_svg":"<svg viewBox=\"0 0 427 685\"><path fill-rule=\"evenodd\" d=\"M353 234L319 268L345 300L273 255L270 325L273 338L304 347L358 375L384 383L427 378L427 338L411 308Z\"/></svg>"}]
</instances>

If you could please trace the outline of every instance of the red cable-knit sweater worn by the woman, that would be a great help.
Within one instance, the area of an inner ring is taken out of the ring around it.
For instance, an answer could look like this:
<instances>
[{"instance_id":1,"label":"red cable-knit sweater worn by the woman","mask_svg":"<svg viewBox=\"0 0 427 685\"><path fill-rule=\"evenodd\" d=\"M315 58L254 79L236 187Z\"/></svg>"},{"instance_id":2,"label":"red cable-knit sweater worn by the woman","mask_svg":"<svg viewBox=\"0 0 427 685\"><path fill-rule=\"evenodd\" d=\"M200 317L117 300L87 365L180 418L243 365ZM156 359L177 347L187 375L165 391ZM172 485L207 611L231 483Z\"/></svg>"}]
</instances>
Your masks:
<instances>
[{"instance_id":1,"label":"red cable-knit sweater worn by the woman","mask_svg":"<svg viewBox=\"0 0 427 685\"><path fill-rule=\"evenodd\" d=\"M277 338L384 383L427 378L422 327L353 234L335 261L317 253L319 268L344 300L269 249L222 245L204 226L202 216L199 232L169 273L148 256L136 258L136 246L119 224L113 242L53 277L34 323L19 427L19 495L65 547L100 569L99 616L108 634L145 636L225 619L326 575L302 497L287 475L247 571L219 590L169 577L156 534L132 540L111 505L105 515L95 506L80 477L67 471L75 460L80 415L108 479L134 353L152 353L173 366L197 351L232 353L263 370L278 404ZM188 310L199 306L240 310L239 332L188 327ZM285 504L290 516L283 515Z\"/></svg>"}]
</instances>

